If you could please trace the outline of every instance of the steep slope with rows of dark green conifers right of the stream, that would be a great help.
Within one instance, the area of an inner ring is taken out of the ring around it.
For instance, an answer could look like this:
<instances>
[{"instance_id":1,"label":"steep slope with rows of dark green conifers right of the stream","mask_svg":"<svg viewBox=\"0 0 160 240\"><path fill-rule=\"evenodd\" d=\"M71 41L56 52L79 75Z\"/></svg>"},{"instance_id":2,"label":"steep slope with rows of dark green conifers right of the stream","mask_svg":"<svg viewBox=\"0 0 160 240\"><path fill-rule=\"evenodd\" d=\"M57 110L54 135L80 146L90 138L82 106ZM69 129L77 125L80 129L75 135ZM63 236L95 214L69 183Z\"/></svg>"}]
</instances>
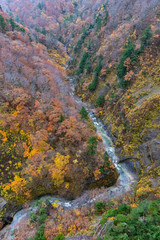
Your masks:
<instances>
[{"instance_id":1,"label":"steep slope with rows of dark green conifers right of the stream","mask_svg":"<svg viewBox=\"0 0 160 240\"><path fill-rule=\"evenodd\" d=\"M81 24L74 24L76 41L70 42L69 74L75 76L76 93L97 108L121 161L128 161L140 173L137 187L148 191L150 186L156 193L160 166L159 1L101 3L94 15L91 8L84 8ZM87 10L90 18L85 15Z\"/></svg>"}]
</instances>

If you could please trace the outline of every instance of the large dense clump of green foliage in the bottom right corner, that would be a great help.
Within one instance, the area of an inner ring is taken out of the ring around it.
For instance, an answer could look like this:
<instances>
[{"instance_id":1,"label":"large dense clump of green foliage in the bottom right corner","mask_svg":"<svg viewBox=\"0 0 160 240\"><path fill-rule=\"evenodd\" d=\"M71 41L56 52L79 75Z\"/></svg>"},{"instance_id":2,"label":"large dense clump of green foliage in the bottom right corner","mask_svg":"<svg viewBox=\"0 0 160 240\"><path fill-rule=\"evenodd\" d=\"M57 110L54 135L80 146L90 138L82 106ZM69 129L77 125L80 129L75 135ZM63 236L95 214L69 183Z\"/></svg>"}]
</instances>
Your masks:
<instances>
[{"instance_id":1,"label":"large dense clump of green foliage in the bottom right corner","mask_svg":"<svg viewBox=\"0 0 160 240\"><path fill-rule=\"evenodd\" d=\"M115 220L113 225L107 224L105 240L159 240L160 200L144 201L134 209L122 204L103 214L101 224L104 225L109 217L115 217Z\"/></svg>"}]
</instances>

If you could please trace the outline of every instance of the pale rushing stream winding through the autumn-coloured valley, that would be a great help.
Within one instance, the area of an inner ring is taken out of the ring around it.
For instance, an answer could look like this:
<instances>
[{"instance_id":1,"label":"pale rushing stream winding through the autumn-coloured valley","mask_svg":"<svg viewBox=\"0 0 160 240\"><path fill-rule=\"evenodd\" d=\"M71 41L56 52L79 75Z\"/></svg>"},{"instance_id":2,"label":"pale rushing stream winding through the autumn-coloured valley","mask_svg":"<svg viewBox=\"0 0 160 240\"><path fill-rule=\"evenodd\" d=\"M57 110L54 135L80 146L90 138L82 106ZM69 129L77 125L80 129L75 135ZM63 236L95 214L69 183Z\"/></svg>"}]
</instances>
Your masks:
<instances>
[{"instance_id":1,"label":"pale rushing stream winding through the autumn-coloured valley","mask_svg":"<svg viewBox=\"0 0 160 240\"><path fill-rule=\"evenodd\" d=\"M89 116L96 128L96 132L98 135L101 136L104 149L108 153L109 157L111 158L112 162L114 163L115 167L117 168L119 172L119 178L117 180L117 183L109 188L103 188L101 191L98 191L97 195L94 194L93 197L91 194L92 190L86 191L82 193L80 197L78 197L75 200L72 201L66 201L65 199L58 198L55 196L44 196L41 197L44 201L48 199L51 203L54 203L57 201L57 203L62 206L64 209L76 209L85 205L89 205L91 203L94 203L95 201L100 200L111 200L113 198L116 198L117 196L120 196L124 193L127 193L131 190L133 190L137 176L136 173L133 171L133 169L130 169L126 163L119 163L118 164L118 157L115 154L115 148L113 146L111 138L108 136L107 131L100 119L98 119L95 115L94 109L88 104L84 103L74 95L74 84L72 83L73 79L68 78L70 81L70 86L72 91L70 92L70 95L74 98L74 101L80 105L81 107L84 106L89 113ZM95 193L95 190L94 190ZM36 201L36 200L35 200ZM32 201L34 203L35 201ZM19 225L23 222L27 222L30 219L30 212L36 212L36 207L30 207L26 209L22 209L21 211L17 212L13 218L13 221L10 225L6 226L2 229L0 232L0 239L15 239L14 237L14 231L15 229L19 228Z\"/></svg>"}]
</instances>

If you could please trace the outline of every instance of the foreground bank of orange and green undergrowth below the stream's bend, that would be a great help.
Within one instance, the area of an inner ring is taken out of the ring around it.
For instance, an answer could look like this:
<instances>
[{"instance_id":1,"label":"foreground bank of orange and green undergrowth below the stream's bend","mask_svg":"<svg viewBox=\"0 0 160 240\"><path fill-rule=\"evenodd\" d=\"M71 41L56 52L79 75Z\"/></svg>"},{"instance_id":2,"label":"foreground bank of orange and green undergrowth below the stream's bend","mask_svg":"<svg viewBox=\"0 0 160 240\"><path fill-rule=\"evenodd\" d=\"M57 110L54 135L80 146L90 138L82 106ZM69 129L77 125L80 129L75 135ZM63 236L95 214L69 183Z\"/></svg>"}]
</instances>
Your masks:
<instances>
[{"instance_id":1,"label":"foreground bank of orange and green undergrowth below the stream's bend","mask_svg":"<svg viewBox=\"0 0 160 240\"><path fill-rule=\"evenodd\" d=\"M144 199L145 200L144 200ZM109 202L66 210L56 200L37 200L30 207L28 224L20 226L20 239L62 240L72 236L94 236L93 239L159 239L160 205L155 195L144 197L126 194ZM152 200L151 200L152 199ZM97 217L102 215L98 224ZM54 222L53 222L54 218ZM103 229L103 231L100 231ZM99 234L100 233L100 234ZM30 237L29 237L30 236ZM19 239L18 238L18 239Z\"/></svg>"}]
</instances>

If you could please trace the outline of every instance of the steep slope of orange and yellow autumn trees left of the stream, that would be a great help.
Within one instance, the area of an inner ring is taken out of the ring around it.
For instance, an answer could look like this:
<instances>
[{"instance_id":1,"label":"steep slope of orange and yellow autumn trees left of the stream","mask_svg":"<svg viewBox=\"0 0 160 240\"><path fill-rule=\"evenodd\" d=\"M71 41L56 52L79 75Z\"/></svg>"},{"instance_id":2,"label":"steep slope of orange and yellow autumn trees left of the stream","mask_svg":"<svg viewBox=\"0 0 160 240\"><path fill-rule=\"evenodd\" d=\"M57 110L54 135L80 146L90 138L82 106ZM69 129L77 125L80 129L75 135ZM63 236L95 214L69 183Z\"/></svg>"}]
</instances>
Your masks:
<instances>
[{"instance_id":1,"label":"steep slope of orange and yellow autumn trees left of the stream","mask_svg":"<svg viewBox=\"0 0 160 240\"><path fill-rule=\"evenodd\" d=\"M0 13L1 195L19 204L47 193L74 198L105 172L105 184L114 183L116 171L89 117L81 119L65 70Z\"/></svg>"}]
</instances>

